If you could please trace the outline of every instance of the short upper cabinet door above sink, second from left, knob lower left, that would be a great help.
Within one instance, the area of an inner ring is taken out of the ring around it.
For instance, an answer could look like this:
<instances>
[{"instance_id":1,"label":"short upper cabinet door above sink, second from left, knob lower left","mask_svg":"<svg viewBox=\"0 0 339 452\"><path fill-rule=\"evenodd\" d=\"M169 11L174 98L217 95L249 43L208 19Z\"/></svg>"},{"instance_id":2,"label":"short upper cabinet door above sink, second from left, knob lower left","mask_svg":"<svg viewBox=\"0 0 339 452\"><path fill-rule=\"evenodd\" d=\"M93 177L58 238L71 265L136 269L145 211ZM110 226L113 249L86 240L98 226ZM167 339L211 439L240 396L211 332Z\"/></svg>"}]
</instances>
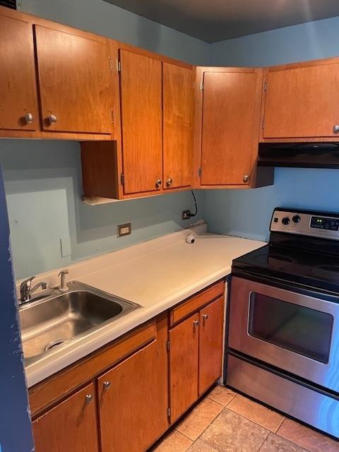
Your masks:
<instances>
[{"instance_id":1,"label":"short upper cabinet door above sink, second from left, knob lower left","mask_svg":"<svg viewBox=\"0 0 339 452\"><path fill-rule=\"evenodd\" d=\"M40 25L35 40L43 129L111 133L107 41Z\"/></svg>"}]
</instances>

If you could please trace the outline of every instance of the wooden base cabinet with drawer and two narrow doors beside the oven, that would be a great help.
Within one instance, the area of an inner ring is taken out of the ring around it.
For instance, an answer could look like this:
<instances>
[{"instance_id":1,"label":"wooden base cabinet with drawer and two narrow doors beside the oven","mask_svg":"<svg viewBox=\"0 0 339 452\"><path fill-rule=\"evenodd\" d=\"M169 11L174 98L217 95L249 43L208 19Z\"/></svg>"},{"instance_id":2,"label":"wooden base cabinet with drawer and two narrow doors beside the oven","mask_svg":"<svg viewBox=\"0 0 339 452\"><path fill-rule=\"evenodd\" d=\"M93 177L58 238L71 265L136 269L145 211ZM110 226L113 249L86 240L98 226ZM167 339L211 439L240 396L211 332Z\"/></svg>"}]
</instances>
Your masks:
<instances>
[{"instance_id":1,"label":"wooden base cabinet with drawer and two narrow doors beside the oven","mask_svg":"<svg viewBox=\"0 0 339 452\"><path fill-rule=\"evenodd\" d=\"M169 323L169 405L175 422L222 374L224 283L172 309Z\"/></svg>"}]
</instances>

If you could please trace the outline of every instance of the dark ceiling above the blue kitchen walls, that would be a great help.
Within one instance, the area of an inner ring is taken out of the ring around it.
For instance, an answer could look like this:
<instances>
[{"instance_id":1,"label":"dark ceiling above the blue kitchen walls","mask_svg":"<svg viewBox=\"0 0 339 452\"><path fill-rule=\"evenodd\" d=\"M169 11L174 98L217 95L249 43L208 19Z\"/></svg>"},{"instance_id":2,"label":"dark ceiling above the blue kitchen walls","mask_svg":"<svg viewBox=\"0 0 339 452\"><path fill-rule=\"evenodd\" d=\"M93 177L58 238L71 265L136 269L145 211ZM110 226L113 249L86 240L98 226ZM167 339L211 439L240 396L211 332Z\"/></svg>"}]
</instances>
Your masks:
<instances>
[{"instance_id":1,"label":"dark ceiling above the blue kitchen walls","mask_svg":"<svg viewBox=\"0 0 339 452\"><path fill-rule=\"evenodd\" d=\"M105 0L206 42L339 16L339 0Z\"/></svg>"}]
</instances>

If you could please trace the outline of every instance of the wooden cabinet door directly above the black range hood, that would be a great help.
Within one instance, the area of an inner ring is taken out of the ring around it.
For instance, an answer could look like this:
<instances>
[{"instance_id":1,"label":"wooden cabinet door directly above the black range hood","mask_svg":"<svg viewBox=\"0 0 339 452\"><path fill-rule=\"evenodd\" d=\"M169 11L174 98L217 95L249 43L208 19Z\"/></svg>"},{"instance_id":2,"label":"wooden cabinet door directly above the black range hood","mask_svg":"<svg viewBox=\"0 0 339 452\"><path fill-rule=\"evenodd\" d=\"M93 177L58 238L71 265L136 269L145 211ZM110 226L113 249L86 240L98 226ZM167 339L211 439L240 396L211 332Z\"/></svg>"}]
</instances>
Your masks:
<instances>
[{"instance_id":1,"label":"wooden cabinet door directly above the black range hood","mask_svg":"<svg viewBox=\"0 0 339 452\"><path fill-rule=\"evenodd\" d=\"M339 59L271 68L263 138L338 136L338 74Z\"/></svg>"}]
</instances>

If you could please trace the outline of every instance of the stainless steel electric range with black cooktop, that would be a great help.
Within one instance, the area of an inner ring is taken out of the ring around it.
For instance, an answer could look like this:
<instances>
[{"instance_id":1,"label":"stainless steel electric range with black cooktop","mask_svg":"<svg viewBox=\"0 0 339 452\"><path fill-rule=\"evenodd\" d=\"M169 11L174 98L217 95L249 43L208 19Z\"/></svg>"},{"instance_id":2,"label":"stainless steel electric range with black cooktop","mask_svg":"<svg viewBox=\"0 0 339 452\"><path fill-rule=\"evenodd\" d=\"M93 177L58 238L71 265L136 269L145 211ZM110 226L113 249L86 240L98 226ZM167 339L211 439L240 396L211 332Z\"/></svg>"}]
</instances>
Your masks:
<instances>
[{"instance_id":1,"label":"stainless steel electric range with black cooktop","mask_svg":"<svg viewBox=\"0 0 339 452\"><path fill-rule=\"evenodd\" d=\"M339 215L276 208L232 263L227 385L339 438Z\"/></svg>"}]
</instances>

